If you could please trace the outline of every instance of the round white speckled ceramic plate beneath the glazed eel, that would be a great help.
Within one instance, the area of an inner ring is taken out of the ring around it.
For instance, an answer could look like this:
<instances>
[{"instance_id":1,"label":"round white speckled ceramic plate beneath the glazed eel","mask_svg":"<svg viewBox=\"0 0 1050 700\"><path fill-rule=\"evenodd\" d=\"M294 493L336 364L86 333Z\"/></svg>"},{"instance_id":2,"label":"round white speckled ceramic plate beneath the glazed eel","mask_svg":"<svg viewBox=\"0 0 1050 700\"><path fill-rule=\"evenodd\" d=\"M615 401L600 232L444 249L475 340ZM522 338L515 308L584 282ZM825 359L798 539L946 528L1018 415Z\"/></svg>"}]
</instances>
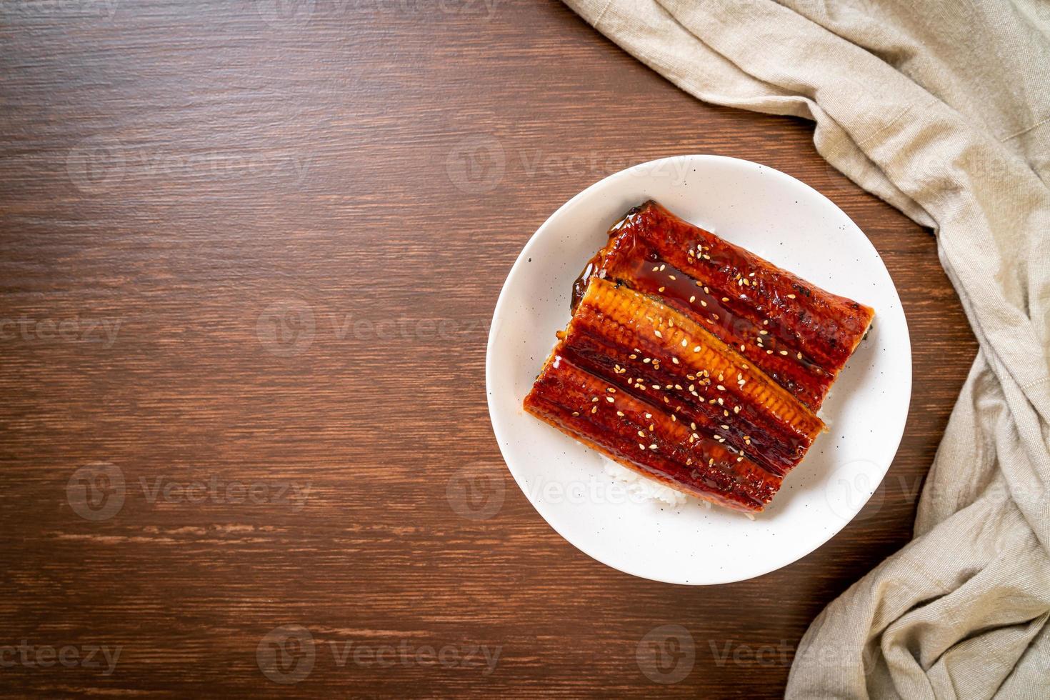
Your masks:
<instances>
[{"instance_id":1,"label":"round white speckled ceramic plate beneath the glazed eel","mask_svg":"<svg viewBox=\"0 0 1050 700\"><path fill-rule=\"evenodd\" d=\"M675 214L876 311L868 337L832 388L830 429L750 521L690 499L628 494L604 462L522 408L569 320L573 279L628 209L653 198ZM583 552L674 584L723 584L779 569L841 530L894 459L911 395L911 346L894 281L867 238L822 194L765 166L680 155L606 177L554 212L514 262L496 304L486 358L488 410L518 485Z\"/></svg>"}]
</instances>

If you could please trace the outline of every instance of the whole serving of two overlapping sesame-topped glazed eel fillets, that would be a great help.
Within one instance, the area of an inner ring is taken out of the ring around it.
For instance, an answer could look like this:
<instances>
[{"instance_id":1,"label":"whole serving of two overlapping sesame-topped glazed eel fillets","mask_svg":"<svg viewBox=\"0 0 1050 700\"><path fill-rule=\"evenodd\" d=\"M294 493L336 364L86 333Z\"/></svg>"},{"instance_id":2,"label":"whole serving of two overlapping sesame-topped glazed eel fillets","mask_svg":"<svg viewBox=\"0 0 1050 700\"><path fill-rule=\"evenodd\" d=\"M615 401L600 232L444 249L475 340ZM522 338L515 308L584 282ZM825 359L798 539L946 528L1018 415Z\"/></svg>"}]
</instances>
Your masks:
<instances>
[{"instance_id":1,"label":"whole serving of two overlapping sesame-topped glazed eel fillets","mask_svg":"<svg viewBox=\"0 0 1050 700\"><path fill-rule=\"evenodd\" d=\"M760 511L874 315L649 200L573 285L525 409L644 476Z\"/></svg>"}]
</instances>

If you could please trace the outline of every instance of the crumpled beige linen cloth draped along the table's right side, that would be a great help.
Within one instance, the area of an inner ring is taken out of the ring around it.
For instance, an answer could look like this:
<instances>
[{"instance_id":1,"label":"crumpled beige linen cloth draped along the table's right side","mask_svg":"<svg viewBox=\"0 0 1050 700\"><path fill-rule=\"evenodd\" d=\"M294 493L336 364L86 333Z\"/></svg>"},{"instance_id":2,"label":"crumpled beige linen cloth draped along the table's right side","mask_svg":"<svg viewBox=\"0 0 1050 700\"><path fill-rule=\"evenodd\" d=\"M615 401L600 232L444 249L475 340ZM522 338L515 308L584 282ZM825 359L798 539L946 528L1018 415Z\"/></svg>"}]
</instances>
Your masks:
<instances>
[{"instance_id":1,"label":"crumpled beige linen cloth draped along the table's right side","mask_svg":"<svg viewBox=\"0 0 1050 700\"><path fill-rule=\"evenodd\" d=\"M814 120L934 229L980 342L915 539L814 620L788 697L1050 698L1050 1L566 2L701 100Z\"/></svg>"}]
</instances>

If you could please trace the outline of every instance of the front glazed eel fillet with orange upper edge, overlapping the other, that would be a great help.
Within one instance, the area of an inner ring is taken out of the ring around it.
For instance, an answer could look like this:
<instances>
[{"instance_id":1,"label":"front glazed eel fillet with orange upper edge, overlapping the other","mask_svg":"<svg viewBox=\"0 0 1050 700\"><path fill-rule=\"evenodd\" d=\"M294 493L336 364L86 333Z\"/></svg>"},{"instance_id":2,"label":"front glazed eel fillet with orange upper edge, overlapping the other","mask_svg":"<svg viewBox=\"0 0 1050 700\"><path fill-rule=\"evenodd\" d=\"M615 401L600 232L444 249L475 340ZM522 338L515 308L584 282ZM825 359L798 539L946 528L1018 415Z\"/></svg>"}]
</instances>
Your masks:
<instances>
[{"instance_id":1,"label":"front glazed eel fillet with orange upper edge, overlapping the other","mask_svg":"<svg viewBox=\"0 0 1050 700\"><path fill-rule=\"evenodd\" d=\"M645 476L761 510L823 423L700 324L594 278L525 409Z\"/></svg>"}]
</instances>

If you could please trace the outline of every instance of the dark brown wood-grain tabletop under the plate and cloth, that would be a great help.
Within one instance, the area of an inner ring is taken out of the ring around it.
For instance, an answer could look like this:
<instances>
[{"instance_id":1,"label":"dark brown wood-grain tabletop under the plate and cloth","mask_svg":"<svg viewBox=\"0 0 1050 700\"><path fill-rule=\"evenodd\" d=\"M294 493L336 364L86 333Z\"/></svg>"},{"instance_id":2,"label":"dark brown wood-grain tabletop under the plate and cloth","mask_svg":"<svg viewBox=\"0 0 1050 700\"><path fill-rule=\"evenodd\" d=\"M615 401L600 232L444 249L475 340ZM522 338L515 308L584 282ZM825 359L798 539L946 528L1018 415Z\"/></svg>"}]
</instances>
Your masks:
<instances>
[{"instance_id":1,"label":"dark brown wood-grain tabletop under the plate and cloth","mask_svg":"<svg viewBox=\"0 0 1050 700\"><path fill-rule=\"evenodd\" d=\"M700 104L554 2L2 13L5 694L775 697L810 620L909 538L975 344L931 233L830 170L811 124ZM861 515L712 588L565 543L485 405L521 247L676 153L827 194L915 354ZM688 631L670 684L666 624Z\"/></svg>"}]
</instances>

